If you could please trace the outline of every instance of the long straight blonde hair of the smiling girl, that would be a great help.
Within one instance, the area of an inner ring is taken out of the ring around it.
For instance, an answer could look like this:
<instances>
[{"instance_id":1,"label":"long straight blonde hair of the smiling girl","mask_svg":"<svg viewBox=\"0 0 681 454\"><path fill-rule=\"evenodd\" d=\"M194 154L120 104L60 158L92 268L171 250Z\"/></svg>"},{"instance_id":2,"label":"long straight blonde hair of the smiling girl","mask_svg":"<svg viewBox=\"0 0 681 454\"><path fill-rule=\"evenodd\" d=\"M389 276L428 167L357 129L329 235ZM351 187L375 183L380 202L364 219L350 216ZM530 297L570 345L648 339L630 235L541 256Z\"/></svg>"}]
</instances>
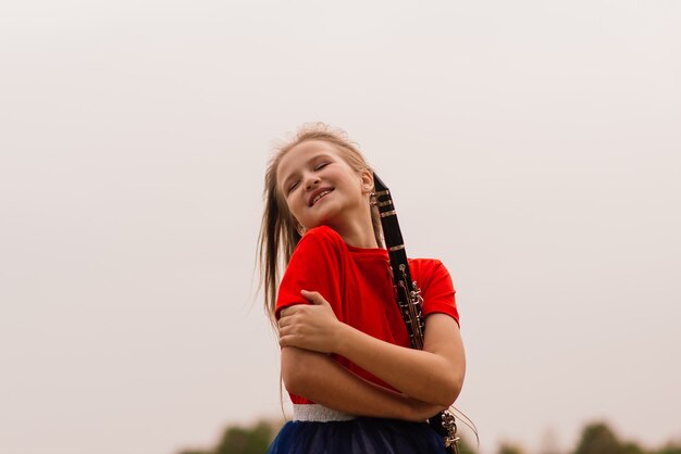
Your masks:
<instances>
[{"instance_id":1,"label":"long straight blonde hair of the smiling girl","mask_svg":"<svg viewBox=\"0 0 681 454\"><path fill-rule=\"evenodd\" d=\"M300 241L298 223L278 190L276 171L282 157L294 147L308 140L322 140L336 148L340 157L357 172L371 167L357 146L351 142L343 129L333 128L324 123L304 125L292 139L275 148L264 175L262 224L258 237L258 260L260 263L260 286L264 287L264 306L274 323L274 306L282 264L288 265L290 256ZM377 210L372 207L371 219L379 245L383 244L381 220Z\"/></svg>"}]
</instances>

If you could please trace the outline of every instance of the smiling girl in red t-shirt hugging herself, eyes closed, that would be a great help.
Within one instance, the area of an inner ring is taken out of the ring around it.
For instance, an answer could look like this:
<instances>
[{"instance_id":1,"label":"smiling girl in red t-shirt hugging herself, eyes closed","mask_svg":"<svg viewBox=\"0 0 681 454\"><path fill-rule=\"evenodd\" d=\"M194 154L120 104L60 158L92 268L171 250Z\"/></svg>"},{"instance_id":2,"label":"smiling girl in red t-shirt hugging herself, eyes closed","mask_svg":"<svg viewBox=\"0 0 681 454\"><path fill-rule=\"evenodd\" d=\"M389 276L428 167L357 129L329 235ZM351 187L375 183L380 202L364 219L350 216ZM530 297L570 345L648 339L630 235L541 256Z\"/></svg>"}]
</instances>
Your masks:
<instances>
[{"instance_id":1,"label":"smiling girl in red t-shirt hugging herself, eyes closed","mask_svg":"<svg viewBox=\"0 0 681 454\"><path fill-rule=\"evenodd\" d=\"M445 452L425 419L463 382L455 290L439 261L409 261L425 317L423 350L411 349L372 190L357 148L322 124L269 164L260 261L294 404L271 454Z\"/></svg>"}]
</instances>

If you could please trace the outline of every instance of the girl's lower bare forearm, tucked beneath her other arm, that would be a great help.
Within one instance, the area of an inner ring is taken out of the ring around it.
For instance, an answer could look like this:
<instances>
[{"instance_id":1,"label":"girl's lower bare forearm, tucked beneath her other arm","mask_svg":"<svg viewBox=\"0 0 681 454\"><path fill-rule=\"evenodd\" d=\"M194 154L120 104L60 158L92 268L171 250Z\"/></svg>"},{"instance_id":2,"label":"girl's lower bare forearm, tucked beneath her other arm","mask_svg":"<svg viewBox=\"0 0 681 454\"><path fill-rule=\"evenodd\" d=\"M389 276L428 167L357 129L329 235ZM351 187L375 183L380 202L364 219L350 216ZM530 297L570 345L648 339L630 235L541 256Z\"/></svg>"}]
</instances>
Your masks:
<instances>
[{"instance_id":1,"label":"girl's lower bare forearm, tucked beneath her other arm","mask_svg":"<svg viewBox=\"0 0 681 454\"><path fill-rule=\"evenodd\" d=\"M442 409L364 380L329 355L295 346L282 349L282 378L294 394L357 416L423 421Z\"/></svg>"}]
</instances>

